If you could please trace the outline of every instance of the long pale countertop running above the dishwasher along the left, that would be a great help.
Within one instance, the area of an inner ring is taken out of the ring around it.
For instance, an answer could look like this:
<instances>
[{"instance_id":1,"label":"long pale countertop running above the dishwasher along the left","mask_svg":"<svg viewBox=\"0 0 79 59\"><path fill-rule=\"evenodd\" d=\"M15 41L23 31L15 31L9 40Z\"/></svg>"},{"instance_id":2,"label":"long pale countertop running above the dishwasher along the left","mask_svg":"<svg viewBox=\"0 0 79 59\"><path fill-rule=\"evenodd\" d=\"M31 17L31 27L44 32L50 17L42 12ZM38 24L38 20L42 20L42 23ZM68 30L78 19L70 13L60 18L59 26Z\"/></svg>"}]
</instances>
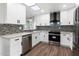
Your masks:
<instances>
[{"instance_id":1,"label":"long pale countertop running above the dishwasher along the left","mask_svg":"<svg viewBox=\"0 0 79 59\"><path fill-rule=\"evenodd\" d=\"M23 36L23 35L35 34L37 32L40 32L40 31L38 31L38 30L35 30L35 31L24 31L24 32L20 32L20 33L0 35L0 37L1 38L5 38L5 39L12 39L12 38L16 38L16 37Z\"/></svg>"}]
</instances>

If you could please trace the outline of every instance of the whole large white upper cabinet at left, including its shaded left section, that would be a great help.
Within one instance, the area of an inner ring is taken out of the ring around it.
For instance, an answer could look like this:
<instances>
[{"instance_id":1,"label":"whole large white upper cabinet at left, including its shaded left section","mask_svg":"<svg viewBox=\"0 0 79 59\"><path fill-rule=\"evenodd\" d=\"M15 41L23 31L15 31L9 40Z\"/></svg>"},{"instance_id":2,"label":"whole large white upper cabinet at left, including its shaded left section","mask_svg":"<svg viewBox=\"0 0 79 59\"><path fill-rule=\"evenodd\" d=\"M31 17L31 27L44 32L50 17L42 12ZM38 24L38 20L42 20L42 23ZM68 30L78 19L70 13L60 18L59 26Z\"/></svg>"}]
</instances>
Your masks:
<instances>
[{"instance_id":1,"label":"whole large white upper cabinet at left, including its shaded left section","mask_svg":"<svg viewBox=\"0 0 79 59\"><path fill-rule=\"evenodd\" d=\"M0 13L1 17L0 23L8 24L25 24L26 20L26 7L22 4L11 3L0 4Z\"/></svg>"}]
</instances>

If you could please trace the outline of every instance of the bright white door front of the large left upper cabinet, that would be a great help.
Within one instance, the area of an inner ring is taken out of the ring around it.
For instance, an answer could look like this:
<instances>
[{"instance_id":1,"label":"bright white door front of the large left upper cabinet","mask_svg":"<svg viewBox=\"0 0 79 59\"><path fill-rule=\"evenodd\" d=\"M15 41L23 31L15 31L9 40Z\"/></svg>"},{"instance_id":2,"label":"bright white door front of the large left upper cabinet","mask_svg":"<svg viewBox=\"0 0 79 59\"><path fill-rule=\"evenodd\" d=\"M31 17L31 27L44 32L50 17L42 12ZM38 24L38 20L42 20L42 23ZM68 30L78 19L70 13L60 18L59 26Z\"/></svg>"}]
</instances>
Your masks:
<instances>
[{"instance_id":1,"label":"bright white door front of the large left upper cabinet","mask_svg":"<svg viewBox=\"0 0 79 59\"><path fill-rule=\"evenodd\" d=\"M7 4L6 23L25 24L26 7L22 4Z\"/></svg>"}]
</instances>

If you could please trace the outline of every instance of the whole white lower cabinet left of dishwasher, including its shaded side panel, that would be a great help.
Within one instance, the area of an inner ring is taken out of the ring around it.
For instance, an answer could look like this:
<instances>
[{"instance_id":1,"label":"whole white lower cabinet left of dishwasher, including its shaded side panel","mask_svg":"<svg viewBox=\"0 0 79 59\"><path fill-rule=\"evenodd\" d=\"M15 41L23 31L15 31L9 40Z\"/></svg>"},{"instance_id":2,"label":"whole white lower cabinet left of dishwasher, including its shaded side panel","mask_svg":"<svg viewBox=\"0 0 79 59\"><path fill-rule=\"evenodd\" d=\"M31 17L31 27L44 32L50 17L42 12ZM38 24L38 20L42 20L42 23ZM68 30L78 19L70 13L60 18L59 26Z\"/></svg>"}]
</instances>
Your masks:
<instances>
[{"instance_id":1,"label":"whole white lower cabinet left of dishwasher, including its shaded side panel","mask_svg":"<svg viewBox=\"0 0 79 59\"><path fill-rule=\"evenodd\" d=\"M2 56L20 56L22 53L21 41L22 37L16 37L12 39L0 38L1 44L1 55Z\"/></svg>"}]
</instances>

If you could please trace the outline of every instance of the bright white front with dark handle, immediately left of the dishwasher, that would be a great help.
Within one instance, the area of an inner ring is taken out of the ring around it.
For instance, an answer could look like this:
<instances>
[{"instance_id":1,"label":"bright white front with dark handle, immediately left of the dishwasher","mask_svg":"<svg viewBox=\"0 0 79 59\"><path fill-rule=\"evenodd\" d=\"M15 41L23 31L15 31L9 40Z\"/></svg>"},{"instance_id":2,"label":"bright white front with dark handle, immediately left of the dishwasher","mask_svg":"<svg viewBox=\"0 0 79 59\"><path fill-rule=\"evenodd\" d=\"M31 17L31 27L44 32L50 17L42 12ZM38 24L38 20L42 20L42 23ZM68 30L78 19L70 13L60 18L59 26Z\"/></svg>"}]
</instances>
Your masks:
<instances>
[{"instance_id":1,"label":"bright white front with dark handle, immediately left of the dishwasher","mask_svg":"<svg viewBox=\"0 0 79 59\"><path fill-rule=\"evenodd\" d=\"M10 55L11 56L19 56L22 53L22 46L21 46L21 37L13 38L10 41Z\"/></svg>"}]
</instances>

